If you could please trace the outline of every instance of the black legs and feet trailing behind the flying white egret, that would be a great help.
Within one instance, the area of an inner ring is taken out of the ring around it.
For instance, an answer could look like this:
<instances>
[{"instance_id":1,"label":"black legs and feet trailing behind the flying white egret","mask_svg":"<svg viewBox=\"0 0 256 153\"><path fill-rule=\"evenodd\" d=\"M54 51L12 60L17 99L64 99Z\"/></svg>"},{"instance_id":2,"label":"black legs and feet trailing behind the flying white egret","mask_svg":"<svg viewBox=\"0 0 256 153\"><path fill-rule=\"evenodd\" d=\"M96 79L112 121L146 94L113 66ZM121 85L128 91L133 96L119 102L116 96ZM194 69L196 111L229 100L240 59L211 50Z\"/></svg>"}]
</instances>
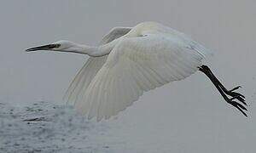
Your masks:
<instances>
[{"instance_id":1,"label":"black legs and feet trailing behind the flying white egret","mask_svg":"<svg viewBox=\"0 0 256 153\"><path fill-rule=\"evenodd\" d=\"M215 77L213 75L212 71L210 70L210 68L207 65L202 65L201 67L199 67L199 71L202 71L203 73L205 73L207 75L207 77L209 77L209 79L212 81L214 86L218 89L218 92L222 95L222 97L224 98L224 100L227 103L236 107L236 109L241 111L241 113L244 116L247 116L247 114L244 112L244 111L247 111L247 108L245 108L243 106L243 105L247 105L247 103L245 102L245 99L244 99L245 97L242 94L234 92L235 90L240 88L240 86L238 86L236 88L232 88L231 90L227 90L224 87L224 85L218 81L217 77ZM231 98L228 98L227 95L229 95ZM243 105L241 105L240 103L237 103L236 101L234 101L234 99L241 101L241 103Z\"/></svg>"}]
</instances>

